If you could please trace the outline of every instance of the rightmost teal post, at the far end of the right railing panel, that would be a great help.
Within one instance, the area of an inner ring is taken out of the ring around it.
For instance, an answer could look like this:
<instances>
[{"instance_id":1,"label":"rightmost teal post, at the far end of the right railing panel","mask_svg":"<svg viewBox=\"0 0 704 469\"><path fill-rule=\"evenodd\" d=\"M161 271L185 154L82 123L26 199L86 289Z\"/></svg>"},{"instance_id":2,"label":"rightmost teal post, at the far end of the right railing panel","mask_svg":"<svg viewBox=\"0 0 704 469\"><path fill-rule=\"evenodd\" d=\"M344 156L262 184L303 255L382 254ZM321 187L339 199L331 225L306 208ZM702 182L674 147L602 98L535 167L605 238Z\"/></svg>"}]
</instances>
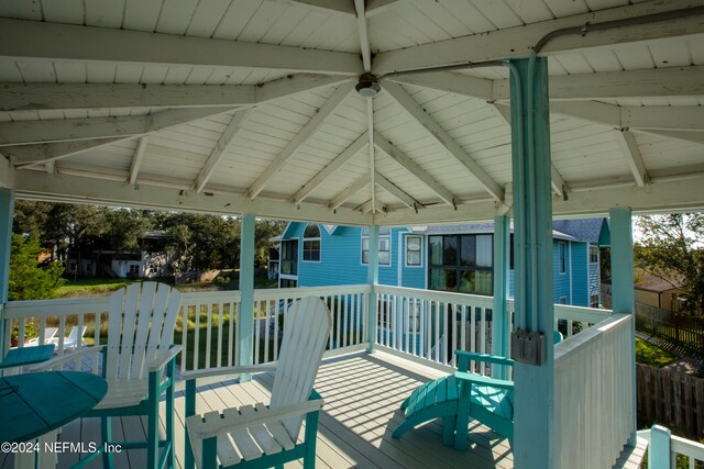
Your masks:
<instances>
[{"instance_id":1,"label":"rightmost teal post, at the far end of the right railing panel","mask_svg":"<svg viewBox=\"0 0 704 469\"><path fill-rule=\"evenodd\" d=\"M612 308L614 314L634 314L634 234L632 216L626 206L608 211L612 232ZM636 445L636 319L630 322L630 357L632 362L632 433L628 439Z\"/></svg>"}]
</instances>

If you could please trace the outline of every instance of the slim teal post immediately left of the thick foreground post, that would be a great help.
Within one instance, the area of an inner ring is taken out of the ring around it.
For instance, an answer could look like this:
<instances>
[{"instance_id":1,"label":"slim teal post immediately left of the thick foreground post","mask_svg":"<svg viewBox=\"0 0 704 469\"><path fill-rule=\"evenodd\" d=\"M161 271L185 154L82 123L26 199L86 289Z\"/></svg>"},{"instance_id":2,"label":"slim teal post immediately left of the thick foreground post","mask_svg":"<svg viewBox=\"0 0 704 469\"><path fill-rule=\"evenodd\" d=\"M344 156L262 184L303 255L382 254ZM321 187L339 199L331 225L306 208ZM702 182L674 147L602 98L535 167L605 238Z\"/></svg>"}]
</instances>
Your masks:
<instances>
[{"instance_id":1,"label":"slim teal post immediately left of the thick foreground post","mask_svg":"<svg viewBox=\"0 0 704 469\"><path fill-rule=\"evenodd\" d=\"M502 215L494 217L494 306L492 309L492 355L508 357L508 333L510 321L506 311L509 270L509 220ZM507 367L492 364L492 376L508 378Z\"/></svg>"}]
</instances>

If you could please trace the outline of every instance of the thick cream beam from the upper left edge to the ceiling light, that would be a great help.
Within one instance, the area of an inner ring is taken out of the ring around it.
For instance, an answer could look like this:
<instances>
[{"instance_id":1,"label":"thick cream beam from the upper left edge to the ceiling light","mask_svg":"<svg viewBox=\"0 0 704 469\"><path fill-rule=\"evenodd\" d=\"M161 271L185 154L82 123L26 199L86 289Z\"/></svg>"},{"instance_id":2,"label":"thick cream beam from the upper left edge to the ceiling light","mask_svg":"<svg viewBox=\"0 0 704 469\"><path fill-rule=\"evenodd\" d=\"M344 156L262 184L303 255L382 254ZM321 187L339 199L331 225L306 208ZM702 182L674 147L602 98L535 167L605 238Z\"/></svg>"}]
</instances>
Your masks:
<instances>
[{"instance_id":1,"label":"thick cream beam from the upper left edge to the ceiling light","mask_svg":"<svg viewBox=\"0 0 704 469\"><path fill-rule=\"evenodd\" d=\"M0 56L345 76L362 71L358 56L350 53L6 18L0 19Z\"/></svg>"}]
</instances>

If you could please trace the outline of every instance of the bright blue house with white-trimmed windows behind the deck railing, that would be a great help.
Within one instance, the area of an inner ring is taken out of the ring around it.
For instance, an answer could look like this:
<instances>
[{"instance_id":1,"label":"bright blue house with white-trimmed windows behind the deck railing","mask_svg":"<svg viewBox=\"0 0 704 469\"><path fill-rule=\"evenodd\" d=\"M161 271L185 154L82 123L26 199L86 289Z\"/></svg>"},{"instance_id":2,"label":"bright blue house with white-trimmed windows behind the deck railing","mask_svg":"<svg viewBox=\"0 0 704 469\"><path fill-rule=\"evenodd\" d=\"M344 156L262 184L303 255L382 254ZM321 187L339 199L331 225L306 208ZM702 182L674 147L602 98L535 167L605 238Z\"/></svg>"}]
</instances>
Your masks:
<instances>
[{"instance_id":1,"label":"bright blue house with white-trimmed windows behind the deck railing","mask_svg":"<svg viewBox=\"0 0 704 469\"><path fill-rule=\"evenodd\" d=\"M493 294L493 224L380 228L382 284ZM605 219L553 224L556 303L600 305ZM365 283L367 228L292 222L280 236L279 287ZM513 256L509 295L513 297Z\"/></svg>"}]
</instances>

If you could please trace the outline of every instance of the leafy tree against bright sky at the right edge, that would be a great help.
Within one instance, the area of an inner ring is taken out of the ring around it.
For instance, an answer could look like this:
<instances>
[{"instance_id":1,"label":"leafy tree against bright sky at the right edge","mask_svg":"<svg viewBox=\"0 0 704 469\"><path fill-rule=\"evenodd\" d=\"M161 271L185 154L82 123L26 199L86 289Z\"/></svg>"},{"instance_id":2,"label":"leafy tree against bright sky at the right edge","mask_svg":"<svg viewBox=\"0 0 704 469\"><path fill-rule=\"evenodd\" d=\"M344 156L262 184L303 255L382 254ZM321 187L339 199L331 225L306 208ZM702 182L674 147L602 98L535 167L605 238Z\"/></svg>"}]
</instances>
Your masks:
<instances>
[{"instance_id":1,"label":"leafy tree against bright sky at the right edge","mask_svg":"<svg viewBox=\"0 0 704 469\"><path fill-rule=\"evenodd\" d=\"M635 246L636 265L688 295L685 310L704 311L704 213L639 216L642 237Z\"/></svg>"}]
</instances>

